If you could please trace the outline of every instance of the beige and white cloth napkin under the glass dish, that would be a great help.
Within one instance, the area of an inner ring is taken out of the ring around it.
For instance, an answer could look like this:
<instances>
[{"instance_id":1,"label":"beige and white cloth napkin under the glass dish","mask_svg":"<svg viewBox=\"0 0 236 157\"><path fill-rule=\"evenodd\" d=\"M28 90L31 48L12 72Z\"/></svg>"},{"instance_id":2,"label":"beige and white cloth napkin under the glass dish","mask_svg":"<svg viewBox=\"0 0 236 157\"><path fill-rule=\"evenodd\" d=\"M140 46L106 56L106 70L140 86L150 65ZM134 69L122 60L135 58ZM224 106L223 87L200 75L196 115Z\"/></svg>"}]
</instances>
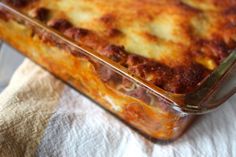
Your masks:
<instances>
[{"instance_id":1,"label":"beige and white cloth napkin under the glass dish","mask_svg":"<svg viewBox=\"0 0 236 157\"><path fill-rule=\"evenodd\" d=\"M201 116L173 143L152 143L25 60L0 94L0 156L236 156L235 103Z\"/></svg>"}]
</instances>

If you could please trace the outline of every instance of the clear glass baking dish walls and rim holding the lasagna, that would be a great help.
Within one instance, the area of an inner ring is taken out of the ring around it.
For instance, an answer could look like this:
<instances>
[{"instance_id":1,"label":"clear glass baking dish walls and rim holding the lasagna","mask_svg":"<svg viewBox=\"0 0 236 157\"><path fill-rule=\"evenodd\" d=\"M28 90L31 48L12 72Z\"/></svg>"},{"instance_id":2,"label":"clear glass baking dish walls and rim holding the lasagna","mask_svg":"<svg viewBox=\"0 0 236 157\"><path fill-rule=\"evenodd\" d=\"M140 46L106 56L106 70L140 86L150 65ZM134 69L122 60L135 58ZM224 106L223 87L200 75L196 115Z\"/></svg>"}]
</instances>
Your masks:
<instances>
[{"instance_id":1,"label":"clear glass baking dish walls and rim holding the lasagna","mask_svg":"<svg viewBox=\"0 0 236 157\"><path fill-rule=\"evenodd\" d=\"M236 51L194 92L174 94L3 2L0 39L153 140L178 138L196 115L218 108L236 92Z\"/></svg>"}]
</instances>

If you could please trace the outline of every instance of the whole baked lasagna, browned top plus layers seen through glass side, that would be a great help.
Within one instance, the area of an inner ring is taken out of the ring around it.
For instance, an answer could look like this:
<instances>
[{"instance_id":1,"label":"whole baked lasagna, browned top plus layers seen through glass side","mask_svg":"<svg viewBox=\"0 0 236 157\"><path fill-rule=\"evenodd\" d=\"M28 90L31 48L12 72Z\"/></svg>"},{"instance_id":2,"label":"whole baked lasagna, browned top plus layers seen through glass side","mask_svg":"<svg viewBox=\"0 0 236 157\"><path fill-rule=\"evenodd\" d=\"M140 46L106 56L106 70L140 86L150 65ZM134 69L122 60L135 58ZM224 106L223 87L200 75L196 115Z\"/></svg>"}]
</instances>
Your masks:
<instances>
[{"instance_id":1,"label":"whole baked lasagna, browned top plus layers seen through glass side","mask_svg":"<svg viewBox=\"0 0 236 157\"><path fill-rule=\"evenodd\" d=\"M174 94L193 92L236 48L233 0L3 2ZM14 22L17 18L9 14L0 7L3 40L142 133L174 139L192 121L193 116L173 111L166 100L150 96L114 71L68 50L50 34Z\"/></svg>"}]
</instances>

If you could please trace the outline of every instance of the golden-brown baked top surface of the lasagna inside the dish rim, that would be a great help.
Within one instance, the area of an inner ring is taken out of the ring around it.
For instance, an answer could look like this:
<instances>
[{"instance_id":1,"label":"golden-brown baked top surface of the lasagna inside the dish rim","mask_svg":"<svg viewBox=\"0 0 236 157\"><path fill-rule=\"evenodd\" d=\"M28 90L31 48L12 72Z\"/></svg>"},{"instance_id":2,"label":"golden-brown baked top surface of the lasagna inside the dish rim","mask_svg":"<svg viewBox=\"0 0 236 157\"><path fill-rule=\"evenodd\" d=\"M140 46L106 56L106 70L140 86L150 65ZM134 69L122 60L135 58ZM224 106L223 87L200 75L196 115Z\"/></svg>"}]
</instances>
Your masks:
<instances>
[{"instance_id":1,"label":"golden-brown baked top surface of the lasagna inside the dish rim","mask_svg":"<svg viewBox=\"0 0 236 157\"><path fill-rule=\"evenodd\" d=\"M234 0L5 1L175 93L192 91L236 47Z\"/></svg>"}]
</instances>

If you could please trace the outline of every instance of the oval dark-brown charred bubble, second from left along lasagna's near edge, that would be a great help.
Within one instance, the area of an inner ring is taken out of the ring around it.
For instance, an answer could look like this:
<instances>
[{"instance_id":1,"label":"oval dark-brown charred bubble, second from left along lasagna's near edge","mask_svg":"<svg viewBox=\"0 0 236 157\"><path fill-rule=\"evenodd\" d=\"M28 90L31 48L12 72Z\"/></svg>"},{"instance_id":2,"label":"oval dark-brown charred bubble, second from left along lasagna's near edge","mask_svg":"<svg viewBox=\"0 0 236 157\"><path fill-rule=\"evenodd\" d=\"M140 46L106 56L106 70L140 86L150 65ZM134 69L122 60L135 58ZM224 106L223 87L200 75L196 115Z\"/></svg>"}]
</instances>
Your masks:
<instances>
[{"instance_id":1,"label":"oval dark-brown charred bubble, second from left along lasagna's near edge","mask_svg":"<svg viewBox=\"0 0 236 157\"><path fill-rule=\"evenodd\" d=\"M71 28L73 25L66 19L52 19L48 21L47 25L52 27L60 32L64 32L65 30Z\"/></svg>"}]
</instances>

